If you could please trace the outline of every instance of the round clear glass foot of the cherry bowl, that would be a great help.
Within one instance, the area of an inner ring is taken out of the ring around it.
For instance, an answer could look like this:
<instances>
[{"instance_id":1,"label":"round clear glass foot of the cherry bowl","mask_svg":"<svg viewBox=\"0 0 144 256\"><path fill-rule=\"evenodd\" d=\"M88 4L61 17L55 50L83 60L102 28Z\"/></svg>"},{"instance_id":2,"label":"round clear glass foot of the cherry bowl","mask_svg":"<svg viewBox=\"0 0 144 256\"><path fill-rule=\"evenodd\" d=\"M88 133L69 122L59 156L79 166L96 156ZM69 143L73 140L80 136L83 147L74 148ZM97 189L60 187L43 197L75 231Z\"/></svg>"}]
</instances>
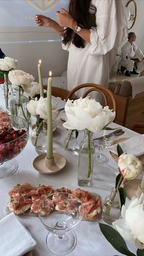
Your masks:
<instances>
[{"instance_id":1,"label":"round clear glass foot of the cherry bowl","mask_svg":"<svg viewBox=\"0 0 144 256\"><path fill-rule=\"evenodd\" d=\"M16 172L18 169L18 162L15 159L0 164L0 178L5 178Z\"/></svg>"}]
</instances>

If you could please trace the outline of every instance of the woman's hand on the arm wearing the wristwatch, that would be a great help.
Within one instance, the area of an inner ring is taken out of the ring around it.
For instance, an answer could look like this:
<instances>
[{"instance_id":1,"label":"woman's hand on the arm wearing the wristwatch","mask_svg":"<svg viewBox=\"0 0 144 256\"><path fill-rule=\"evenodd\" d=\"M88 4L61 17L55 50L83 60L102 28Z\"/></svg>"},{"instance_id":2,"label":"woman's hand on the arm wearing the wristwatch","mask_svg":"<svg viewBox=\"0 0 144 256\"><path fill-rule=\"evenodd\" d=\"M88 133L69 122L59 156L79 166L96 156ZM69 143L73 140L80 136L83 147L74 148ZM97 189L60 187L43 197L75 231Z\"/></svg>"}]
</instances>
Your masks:
<instances>
[{"instance_id":1,"label":"woman's hand on the arm wearing the wristwatch","mask_svg":"<svg viewBox=\"0 0 144 256\"><path fill-rule=\"evenodd\" d=\"M67 10L60 8L62 12L56 12L57 20L60 27L70 27L73 29L74 20Z\"/></svg>"}]
</instances>

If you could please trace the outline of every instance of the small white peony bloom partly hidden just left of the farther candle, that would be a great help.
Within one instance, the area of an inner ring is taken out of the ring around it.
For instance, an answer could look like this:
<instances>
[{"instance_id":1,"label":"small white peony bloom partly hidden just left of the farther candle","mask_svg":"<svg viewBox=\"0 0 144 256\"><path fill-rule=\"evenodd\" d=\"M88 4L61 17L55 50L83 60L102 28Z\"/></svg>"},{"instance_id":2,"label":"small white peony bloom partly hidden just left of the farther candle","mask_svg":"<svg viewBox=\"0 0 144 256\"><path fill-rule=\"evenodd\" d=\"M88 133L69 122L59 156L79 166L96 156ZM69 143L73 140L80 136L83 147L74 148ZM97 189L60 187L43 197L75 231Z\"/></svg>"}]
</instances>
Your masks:
<instances>
[{"instance_id":1,"label":"small white peony bloom partly hidden just left of the farther candle","mask_svg":"<svg viewBox=\"0 0 144 256\"><path fill-rule=\"evenodd\" d=\"M31 82L31 84L24 85L23 89L24 92L26 92L26 94L31 98L40 93L40 86L38 82Z\"/></svg>"}]
</instances>

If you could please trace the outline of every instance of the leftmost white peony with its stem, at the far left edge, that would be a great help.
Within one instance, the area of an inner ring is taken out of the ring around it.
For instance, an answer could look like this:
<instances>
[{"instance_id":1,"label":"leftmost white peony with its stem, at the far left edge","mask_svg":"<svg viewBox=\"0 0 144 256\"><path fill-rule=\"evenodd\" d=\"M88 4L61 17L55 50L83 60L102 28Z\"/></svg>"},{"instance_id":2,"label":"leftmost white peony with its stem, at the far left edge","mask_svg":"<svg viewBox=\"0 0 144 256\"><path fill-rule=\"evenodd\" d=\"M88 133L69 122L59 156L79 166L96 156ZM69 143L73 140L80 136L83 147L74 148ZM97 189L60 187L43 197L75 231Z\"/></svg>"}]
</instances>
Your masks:
<instances>
[{"instance_id":1,"label":"leftmost white peony with its stem, at the far left edge","mask_svg":"<svg viewBox=\"0 0 144 256\"><path fill-rule=\"evenodd\" d=\"M0 73L4 74L5 86L5 106L9 108L9 84L8 84L8 75L9 71L16 68L17 60L12 59L10 57L4 57L4 59L0 59Z\"/></svg>"}]
</instances>

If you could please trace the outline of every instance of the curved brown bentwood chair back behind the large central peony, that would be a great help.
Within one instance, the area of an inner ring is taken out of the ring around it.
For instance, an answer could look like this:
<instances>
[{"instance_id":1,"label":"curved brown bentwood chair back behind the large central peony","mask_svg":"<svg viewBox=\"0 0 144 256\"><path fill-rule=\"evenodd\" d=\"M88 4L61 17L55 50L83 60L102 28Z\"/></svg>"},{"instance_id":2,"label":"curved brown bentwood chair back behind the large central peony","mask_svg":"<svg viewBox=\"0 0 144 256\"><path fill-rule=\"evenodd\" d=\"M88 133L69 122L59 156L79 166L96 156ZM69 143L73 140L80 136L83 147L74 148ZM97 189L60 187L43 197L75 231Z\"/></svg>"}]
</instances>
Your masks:
<instances>
[{"instance_id":1,"label":"curved brown bentwood chair back behind the large central peony","mask_svg":"<svg viewBox=\"0 0 144 256\"><path fill-rule=\"evenodd\" d=\"M74 87L74 89L71 90L70 93L68 93L66 100L68 100L68 98L70 98L71 100L72 95L77 90L80 90L84 87L91 87L91 88L88 89L84 93L84 95L82 95L82 98L85 98L90 92L97 91L101 93L101 95L103 96L103 100L104 100L103 106L109 106L109 108L113 109L113 111L117 111L117 104L116 104L115 95L113 94L113 92L107 87L99 86L98 84L93 84L93 83L80 84L79 86Z\"/></svg>"}]
</instances>

